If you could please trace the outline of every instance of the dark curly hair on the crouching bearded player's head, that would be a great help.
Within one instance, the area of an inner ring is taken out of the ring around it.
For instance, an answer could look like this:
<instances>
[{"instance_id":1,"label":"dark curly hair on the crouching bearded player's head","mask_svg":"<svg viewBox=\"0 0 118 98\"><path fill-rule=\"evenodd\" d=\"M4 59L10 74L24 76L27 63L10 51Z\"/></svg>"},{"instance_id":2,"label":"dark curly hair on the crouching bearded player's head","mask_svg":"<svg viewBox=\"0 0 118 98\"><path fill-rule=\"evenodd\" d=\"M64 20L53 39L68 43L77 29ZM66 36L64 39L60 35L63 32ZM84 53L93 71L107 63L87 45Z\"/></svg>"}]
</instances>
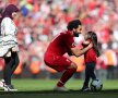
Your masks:
<instances>
[{"instance_id":1,"label":"dark curly hair on the crouching bearded player's head","mask_svg":"<svg viewBox=\"0 0 118 98\"><path fill-rule=\"evenodd\" d=\"M79 25L82 25L82 23L80 22L80 20L73 20L71 22L68 23L68 30L72 30L73 28L78 28Z\"/></svg>"}]
</instances>

